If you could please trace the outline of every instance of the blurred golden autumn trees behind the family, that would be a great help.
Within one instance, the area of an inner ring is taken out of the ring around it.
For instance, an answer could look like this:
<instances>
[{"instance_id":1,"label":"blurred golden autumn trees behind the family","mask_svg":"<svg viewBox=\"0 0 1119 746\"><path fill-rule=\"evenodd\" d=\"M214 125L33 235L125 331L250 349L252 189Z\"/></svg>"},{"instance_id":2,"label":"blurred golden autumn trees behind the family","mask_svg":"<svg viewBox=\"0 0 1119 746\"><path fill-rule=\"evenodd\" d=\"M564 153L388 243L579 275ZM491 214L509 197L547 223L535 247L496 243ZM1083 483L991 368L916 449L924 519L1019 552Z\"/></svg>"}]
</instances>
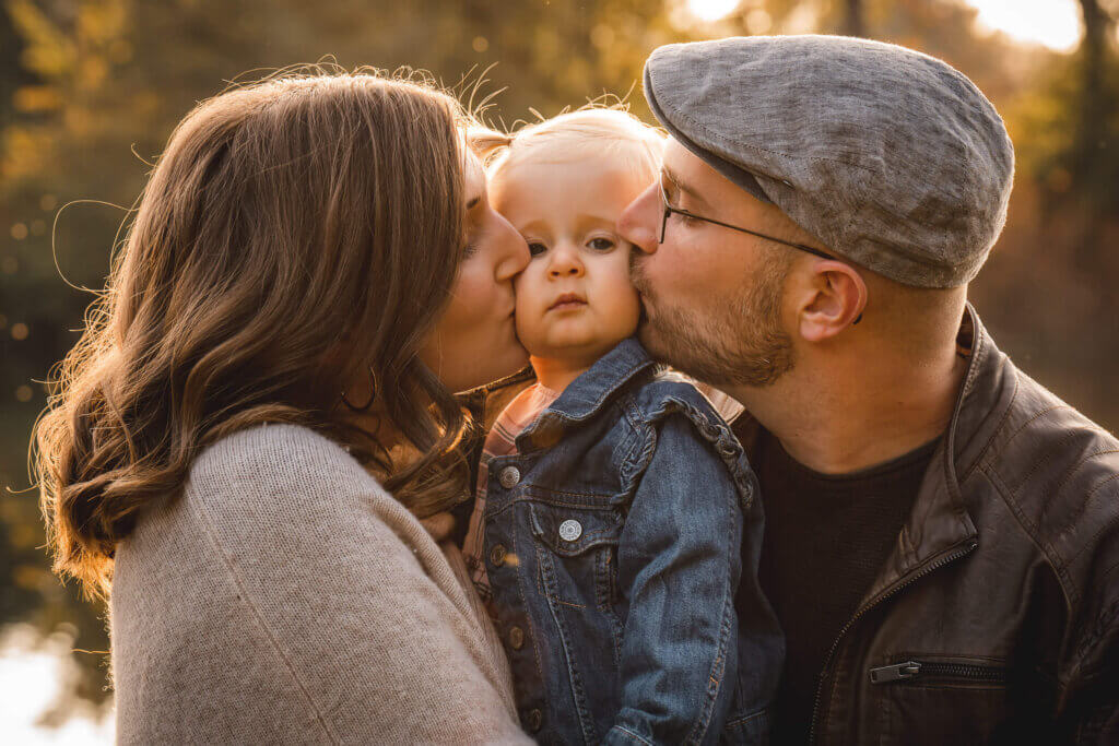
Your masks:
<instances>
[{"instance_id":1,"label":"blurred golden autumn trees behind the family","mask_svg":"<svg viewBox=\"0 0 1119 746\"><path fill-rule=\"evenodd\" d=\"M982 30L962 0L725 4L705 20L686 0L0 0L0 624L62 629L83 671L46 721L110 696L104 610L50 575L27 475L41 381L92 300L67 282L103 285L148 163L233 78L331 55L453 86L497 63L493 123L631 89L651 121L641 65L670 41L818 31L935 55L991 98L1017 151L1009 220L972 301L1021 367L1119 427L1119 2L1078 0L1083 34L1065 53Z\"/></svg>"}]
</instances>

